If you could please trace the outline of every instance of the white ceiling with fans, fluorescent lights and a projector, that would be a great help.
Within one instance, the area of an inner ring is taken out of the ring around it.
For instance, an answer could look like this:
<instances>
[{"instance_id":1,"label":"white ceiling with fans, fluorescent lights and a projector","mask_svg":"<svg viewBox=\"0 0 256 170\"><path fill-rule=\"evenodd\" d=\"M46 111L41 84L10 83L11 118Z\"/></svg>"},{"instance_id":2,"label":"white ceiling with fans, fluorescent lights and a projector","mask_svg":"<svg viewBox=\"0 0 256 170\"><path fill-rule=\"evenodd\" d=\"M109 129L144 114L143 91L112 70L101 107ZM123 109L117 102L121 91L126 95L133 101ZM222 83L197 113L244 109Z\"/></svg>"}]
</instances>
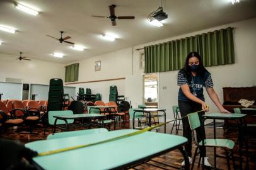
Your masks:
<instances>
[{"instance_id":1,"label":"white ceiling with fans, fluorescent lights and a projector","mask_svg":"<svg viewBox=\"0 0 256 170\"><path fill-rule=\"evenodd\" d=\"M256 16L255 0L163 0L163 9L168 14L164 26L149 25L146 18L159 6L158 0L24 0L40 11L38 16L23 13L14 7L13 1L0 1L0 25L12 26L15 34L0 31L0 53L19 55L23 52L32 59L67 64L76 60L106 54L122 48L153 42L168 37L199 31L214 26L245 20ZM116 16L135 16L135 20L110 20L93 18L91 15L109 16L108 6L117 5ZM72 37L69 41L84 45L83 52L72 50L67 43L47 37L60 37L59 31ZM102 33L117 35L115 42L100 38ZM59 59L50 53L62 52Z\"/></svg>"}]
</instances>

